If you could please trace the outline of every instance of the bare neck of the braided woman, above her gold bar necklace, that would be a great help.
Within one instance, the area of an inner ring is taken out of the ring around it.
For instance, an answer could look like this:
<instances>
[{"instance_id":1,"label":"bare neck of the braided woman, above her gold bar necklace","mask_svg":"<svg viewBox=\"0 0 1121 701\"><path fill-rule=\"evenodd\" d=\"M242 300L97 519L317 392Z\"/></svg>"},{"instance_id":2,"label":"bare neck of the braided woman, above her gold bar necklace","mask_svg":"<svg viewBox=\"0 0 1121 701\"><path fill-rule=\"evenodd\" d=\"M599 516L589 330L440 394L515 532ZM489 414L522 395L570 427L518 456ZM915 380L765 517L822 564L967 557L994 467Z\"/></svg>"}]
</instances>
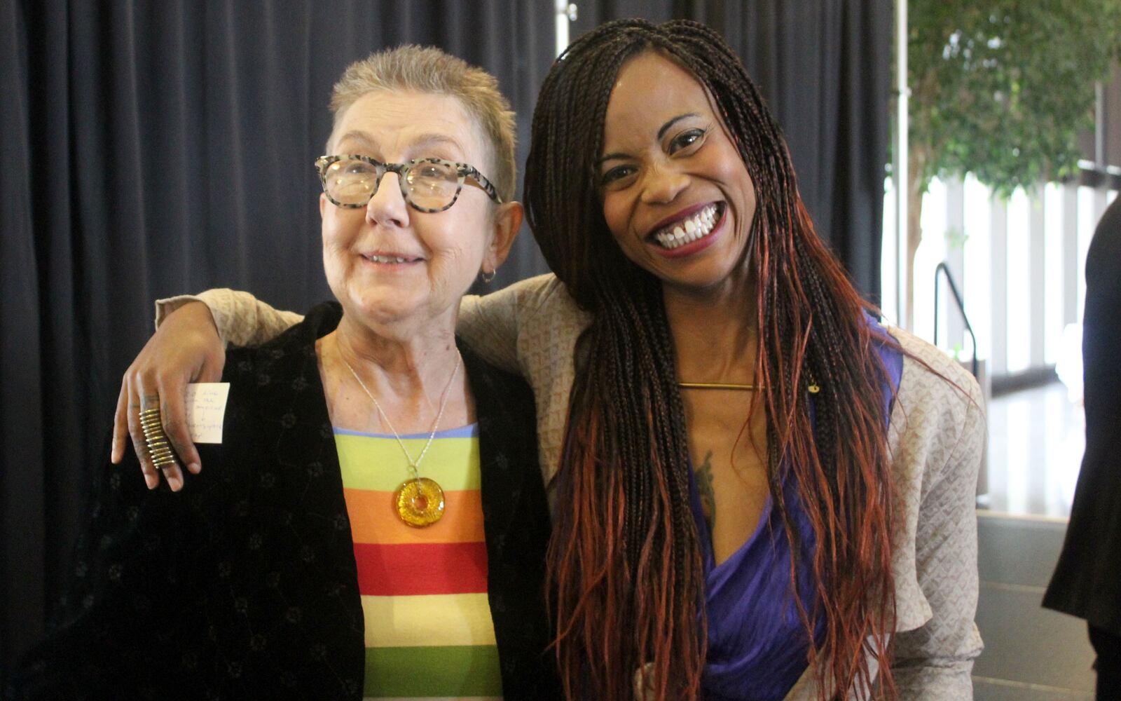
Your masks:
<instances>
[{"instance_id":1,"label":"bare neck of the braided woman, above her gold bar necklace","mask_svg":"<svg viewBox=\"0 0 1121 701\"><path fill-rule=\"evenodd\" d=\"M679 381L753 384L756 295L750 285L736 287L748 289L663 290Z\"/></svg>"}]
</instances>

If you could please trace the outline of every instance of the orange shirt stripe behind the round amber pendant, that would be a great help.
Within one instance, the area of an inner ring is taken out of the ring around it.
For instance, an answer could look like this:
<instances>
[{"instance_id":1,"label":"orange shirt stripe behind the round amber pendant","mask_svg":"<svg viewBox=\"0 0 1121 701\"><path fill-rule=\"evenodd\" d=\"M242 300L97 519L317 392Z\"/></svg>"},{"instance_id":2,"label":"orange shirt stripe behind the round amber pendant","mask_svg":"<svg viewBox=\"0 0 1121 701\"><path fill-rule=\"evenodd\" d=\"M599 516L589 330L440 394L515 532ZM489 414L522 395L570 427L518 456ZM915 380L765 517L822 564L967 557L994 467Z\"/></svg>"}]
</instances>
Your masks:
<instances>
[{"instance_id":1,"label":"orange shirt stripe behind the round amber pendant","mask_svg":"<svg viewBox=\"0 0 1121 701\"><path fill-rule=\"evenodd\" d=\"M483 504L478 490L445 491L444 517L426 528L414 528L397 517L393 494L343 489L351 537L355 543L482 543Z\"/></svg>"}]
</instances>

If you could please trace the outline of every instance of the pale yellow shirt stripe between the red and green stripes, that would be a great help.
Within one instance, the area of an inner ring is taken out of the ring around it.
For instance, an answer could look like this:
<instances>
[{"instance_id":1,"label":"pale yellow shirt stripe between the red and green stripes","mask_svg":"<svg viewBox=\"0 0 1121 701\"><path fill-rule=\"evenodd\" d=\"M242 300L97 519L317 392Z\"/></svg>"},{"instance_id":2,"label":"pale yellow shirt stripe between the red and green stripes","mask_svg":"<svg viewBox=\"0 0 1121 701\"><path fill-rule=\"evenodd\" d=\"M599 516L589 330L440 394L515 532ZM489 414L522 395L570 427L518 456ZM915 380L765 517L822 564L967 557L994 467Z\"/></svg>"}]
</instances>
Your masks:
<instances>
[{"instance_id":1,"label":"pale yellow shirt stripe between the red and green stripes","mask_svg":"<svg viewBox=\"0 0 1121 701\"><path fill-rule=\"evenodd\" d=\"M362 597L367 647L495 645L485 593Z\"/></svg>"}]
</instances>

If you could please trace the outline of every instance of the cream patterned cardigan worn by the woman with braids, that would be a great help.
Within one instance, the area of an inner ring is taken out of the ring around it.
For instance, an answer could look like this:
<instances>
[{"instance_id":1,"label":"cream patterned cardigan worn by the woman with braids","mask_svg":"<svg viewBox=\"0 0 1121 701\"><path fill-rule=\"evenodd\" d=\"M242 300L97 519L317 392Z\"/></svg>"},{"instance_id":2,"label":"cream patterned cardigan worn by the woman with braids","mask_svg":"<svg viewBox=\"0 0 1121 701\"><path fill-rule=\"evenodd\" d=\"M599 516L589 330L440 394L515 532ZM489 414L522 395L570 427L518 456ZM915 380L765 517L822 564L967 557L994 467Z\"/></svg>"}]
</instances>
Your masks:
<instances>
[{"instance_id":1,"label":"cream patterned cardigan worn by the woman with braids","mask_svg":"<svg viewBox=\"0 0 1121 701\"><path fill-rule=\"evenodd\" d=\"M211 289L157 303L157 324L187 299L206 303L226 343L268 340L300 320L252 295ZM522 280L484 297L464 297L457 332L480 356L529 380L537 399L541 471L550 483L574 379L576 338L590 316L553 275ZM890 329L904 359L888 431L896 487L893 574L897 625L892 667L900 698L965 701L982 649L973 622L978 601L974 494L985 435L976 382L933 345ZM966 394L967 393L967 394ZM816 699L812 670L787 695ZM850 698L856 698L850 694Z\"/></svg>"}]
</instances>

